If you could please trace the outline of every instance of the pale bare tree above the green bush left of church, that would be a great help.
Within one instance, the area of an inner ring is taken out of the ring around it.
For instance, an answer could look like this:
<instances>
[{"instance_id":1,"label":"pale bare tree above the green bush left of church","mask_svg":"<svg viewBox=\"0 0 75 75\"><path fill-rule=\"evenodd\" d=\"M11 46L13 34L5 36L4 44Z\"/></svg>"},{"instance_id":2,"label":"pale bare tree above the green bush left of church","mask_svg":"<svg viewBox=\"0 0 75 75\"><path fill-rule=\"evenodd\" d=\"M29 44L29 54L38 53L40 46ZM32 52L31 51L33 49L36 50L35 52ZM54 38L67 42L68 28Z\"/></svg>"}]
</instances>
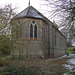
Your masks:
<instances>
[{"instance_id":1,"label":"pale bare tree above the green bush left of church","mask_svg":"<svg viewBox=\"0 0 75 75\"><path fill-rule=\"evenodd\" d=\"M11 4L0 8L0 35L10 34L10 21L11 18L16 14L14 12L15 9L16 8L12 8Z\"/></svg>"}]
</instances>

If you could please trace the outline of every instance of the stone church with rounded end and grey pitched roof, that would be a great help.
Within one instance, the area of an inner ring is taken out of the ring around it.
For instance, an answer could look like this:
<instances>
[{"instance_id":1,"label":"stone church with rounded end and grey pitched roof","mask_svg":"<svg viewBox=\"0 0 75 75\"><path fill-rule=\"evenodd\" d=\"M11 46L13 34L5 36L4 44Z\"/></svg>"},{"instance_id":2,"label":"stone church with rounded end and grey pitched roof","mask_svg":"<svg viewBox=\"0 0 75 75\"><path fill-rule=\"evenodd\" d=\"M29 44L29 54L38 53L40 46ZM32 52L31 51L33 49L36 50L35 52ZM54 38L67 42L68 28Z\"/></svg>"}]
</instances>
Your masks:
<instances>
[{"instance_id":1,"label":"stone church with rounded end and grey pitched roof","mask_svg":"<svg viewBox=\"0 0 75 75\"><path fill-rule=\"evenodd\" d=\"M32 6L17 14L11 26L13 56L60 57L66 53L64 35Z\"/></svg>"}]
</instances>

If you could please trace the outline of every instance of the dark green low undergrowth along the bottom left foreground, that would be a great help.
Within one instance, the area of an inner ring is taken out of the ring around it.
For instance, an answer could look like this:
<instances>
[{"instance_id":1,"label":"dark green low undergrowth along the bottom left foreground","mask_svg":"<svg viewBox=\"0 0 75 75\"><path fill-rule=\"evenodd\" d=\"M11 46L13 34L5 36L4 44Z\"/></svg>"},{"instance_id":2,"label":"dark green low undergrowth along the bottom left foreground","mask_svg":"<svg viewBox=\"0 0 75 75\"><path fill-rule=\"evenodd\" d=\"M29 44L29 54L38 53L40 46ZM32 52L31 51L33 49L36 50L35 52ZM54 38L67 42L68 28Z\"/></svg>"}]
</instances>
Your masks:
<instances>
[{"instance_id":1,"label":"dark green low undergrowth along the bottom left foreground","mask_svg":"<svg viewBox=\"0 0 75 75\"><path fill-rule=\"evenodd\" d=\"M49 75L39 67L6 67L0 71L1 75Z\"/></svg>"}]
</instances>

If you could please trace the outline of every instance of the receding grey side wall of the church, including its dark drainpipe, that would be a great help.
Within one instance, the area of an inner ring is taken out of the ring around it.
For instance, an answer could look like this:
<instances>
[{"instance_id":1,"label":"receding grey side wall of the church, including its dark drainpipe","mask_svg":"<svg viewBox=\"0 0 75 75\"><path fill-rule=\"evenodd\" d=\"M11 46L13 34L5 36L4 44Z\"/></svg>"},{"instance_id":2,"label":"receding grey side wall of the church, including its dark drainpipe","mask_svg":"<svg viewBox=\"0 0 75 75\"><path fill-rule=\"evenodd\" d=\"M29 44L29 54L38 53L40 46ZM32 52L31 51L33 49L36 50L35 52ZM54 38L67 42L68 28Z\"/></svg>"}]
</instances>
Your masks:
<instances>
[{"instance_id":1,"label":"receding grey side wall of the church, including its dark drainpipe","mask_svg":"<svg viewBox=\"0 0 75 75\"><path fill-rule=\"evenodd\" d=\"M60 33L60 31L49 24L50 32L50 57L60 57L66 53L66 38Z\"/></svg>"}]
</instances>

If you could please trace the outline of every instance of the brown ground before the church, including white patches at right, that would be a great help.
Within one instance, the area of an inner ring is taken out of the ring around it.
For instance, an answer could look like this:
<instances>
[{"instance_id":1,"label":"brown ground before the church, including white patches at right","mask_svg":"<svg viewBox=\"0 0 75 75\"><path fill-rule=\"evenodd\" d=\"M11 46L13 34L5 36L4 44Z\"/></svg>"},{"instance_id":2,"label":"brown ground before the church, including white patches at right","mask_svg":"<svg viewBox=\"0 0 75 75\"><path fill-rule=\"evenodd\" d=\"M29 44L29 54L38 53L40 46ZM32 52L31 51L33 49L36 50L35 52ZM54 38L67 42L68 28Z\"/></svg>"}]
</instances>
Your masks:
<instances>
[{"instance_id":1,"label":"brown ground before the church, including white patches at right","mask_svg":"<svg viewBox=\"0 0 75 75\"><path fill-rule=\"evenodd\" d=\"M39 67L41 71L48 75L75 75L74 57L64 57L55 59L44 58L25 58L10 59L10 66L16 67ZM7 59L8 60L8 59ZM71 63L73 61L73 63ZM9 66L8 65L8 66ZM73 72L72 72L73 71ZM69 74L68 74L69 73ZM46 74L45 74L46 75Z\"/></svg>"}]
</instances>

